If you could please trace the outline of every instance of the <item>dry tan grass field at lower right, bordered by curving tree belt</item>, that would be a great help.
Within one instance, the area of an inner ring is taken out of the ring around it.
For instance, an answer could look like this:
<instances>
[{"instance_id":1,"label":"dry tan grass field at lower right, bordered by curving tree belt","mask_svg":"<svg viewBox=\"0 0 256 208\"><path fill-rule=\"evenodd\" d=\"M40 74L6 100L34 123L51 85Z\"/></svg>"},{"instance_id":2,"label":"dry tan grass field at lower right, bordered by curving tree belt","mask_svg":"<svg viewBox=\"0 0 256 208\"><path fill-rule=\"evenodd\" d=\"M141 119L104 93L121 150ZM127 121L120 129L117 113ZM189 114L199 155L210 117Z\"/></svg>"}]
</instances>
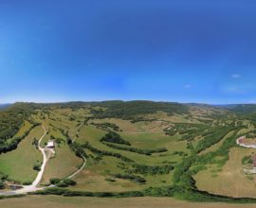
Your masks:
<instances>
[{"instance_id":1,"label":"dry tan grass field at lower right, bordered by curving tree belt","mask_svg":"<svg viewBox=\"0 0 256 208\"><path fill-rule=\"evenodd\" d=\"M229 162L221 171L217 166L208 166L207 170L195 176L196 185L200 190L235 198L256 198L256 179L253 181L243 173L242 159L250 155L253 149L233 147L229 152Z\"/></svg>"}]
</instances>

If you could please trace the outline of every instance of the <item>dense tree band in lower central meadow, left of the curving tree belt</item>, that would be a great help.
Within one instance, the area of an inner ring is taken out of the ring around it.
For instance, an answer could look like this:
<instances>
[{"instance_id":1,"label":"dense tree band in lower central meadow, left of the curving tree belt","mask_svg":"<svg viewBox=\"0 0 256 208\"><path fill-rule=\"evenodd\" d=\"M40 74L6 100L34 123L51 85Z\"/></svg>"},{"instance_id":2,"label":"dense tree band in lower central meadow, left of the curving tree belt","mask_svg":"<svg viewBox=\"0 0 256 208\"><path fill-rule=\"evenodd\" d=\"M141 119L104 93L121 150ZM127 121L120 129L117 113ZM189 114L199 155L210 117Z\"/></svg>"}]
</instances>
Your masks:
<instances>
[{"instance_id":1,"label":"dense tree band in lower central meadow, left of the curving tree belt","mask_svg":"<svg viewBox=\"0 0 256 208\"><path fill-rule=\"evenodd\" d=\"M129 174L142 174L142 175L165 175L169 174L171 171L174 170L174 165L138 165L133 164L133 168L126 170Z\"/></svg>"}]
</instances>

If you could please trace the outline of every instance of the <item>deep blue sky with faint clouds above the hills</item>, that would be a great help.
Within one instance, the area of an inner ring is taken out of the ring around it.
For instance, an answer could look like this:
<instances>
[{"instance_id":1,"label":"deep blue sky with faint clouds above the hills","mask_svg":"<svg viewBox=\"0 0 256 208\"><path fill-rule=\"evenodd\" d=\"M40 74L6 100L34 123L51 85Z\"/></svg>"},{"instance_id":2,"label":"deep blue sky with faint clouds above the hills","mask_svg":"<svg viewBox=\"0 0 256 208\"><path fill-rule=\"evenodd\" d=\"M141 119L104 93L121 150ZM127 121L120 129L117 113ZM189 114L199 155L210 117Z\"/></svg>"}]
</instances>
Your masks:
<instances>
[{"instance_id":1,"label":"deep blue sky with faint clouds above the hills","mask_svg":"<svg viewBox=\"0 0 256 208\"><path fill-rule=\"evenodd\" d=\"M255 10L255 0L0 0L0 103L255 103Z\"/></svg>"}]
</instances>

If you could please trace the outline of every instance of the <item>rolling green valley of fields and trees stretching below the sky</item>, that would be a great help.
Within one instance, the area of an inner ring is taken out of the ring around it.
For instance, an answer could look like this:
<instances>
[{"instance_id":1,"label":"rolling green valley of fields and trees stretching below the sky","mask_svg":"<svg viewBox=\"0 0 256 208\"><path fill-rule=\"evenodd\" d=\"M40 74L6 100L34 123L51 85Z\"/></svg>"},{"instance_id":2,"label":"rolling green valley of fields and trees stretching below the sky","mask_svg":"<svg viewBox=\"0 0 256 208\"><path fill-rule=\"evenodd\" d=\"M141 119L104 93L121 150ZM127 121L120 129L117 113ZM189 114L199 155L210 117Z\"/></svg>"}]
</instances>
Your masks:
<instances>
[{"instance_id":1,"label":"rolling green valley of fields and trees stretching below the sky","mask_svg":"<svg viewBox=\"0 0 256 208\"><path fill-rule=\"evenodd\" d=\"M254 151L236 144L240 136L255 138L254 108L16 103L0 112L0 194L34 182L42 147L37 194L254 201L256 177L243 172Z\"/></svg>"}]
</instances>

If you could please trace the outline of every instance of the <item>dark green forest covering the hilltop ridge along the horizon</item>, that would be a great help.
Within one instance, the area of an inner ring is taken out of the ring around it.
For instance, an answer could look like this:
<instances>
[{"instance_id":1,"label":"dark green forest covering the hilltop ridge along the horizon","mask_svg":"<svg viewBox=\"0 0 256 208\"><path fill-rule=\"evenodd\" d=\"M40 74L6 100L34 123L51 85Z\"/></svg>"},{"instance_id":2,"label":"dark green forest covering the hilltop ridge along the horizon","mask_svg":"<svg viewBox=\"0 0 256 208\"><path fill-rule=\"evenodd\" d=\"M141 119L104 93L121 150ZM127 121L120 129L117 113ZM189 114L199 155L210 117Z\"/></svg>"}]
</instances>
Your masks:
<instances>
[{"instance_id":1,"label":"dark green forest covering the hilltop ridge along the horizon","mask_svg":"<svg viewBox=\"0 0 256 208\"><path fill-rule=\"evenodd\" d=\"M134 119L139 115L149 113L189 113L189 106L174 102L154 102L154 101L102 101L102 102L66 102L54 104L27 103L29 108L47 110L48 108L70 108L70 109L90 109L96 118L117 117L122 119Z\"/></svg>"}]
</instances>

